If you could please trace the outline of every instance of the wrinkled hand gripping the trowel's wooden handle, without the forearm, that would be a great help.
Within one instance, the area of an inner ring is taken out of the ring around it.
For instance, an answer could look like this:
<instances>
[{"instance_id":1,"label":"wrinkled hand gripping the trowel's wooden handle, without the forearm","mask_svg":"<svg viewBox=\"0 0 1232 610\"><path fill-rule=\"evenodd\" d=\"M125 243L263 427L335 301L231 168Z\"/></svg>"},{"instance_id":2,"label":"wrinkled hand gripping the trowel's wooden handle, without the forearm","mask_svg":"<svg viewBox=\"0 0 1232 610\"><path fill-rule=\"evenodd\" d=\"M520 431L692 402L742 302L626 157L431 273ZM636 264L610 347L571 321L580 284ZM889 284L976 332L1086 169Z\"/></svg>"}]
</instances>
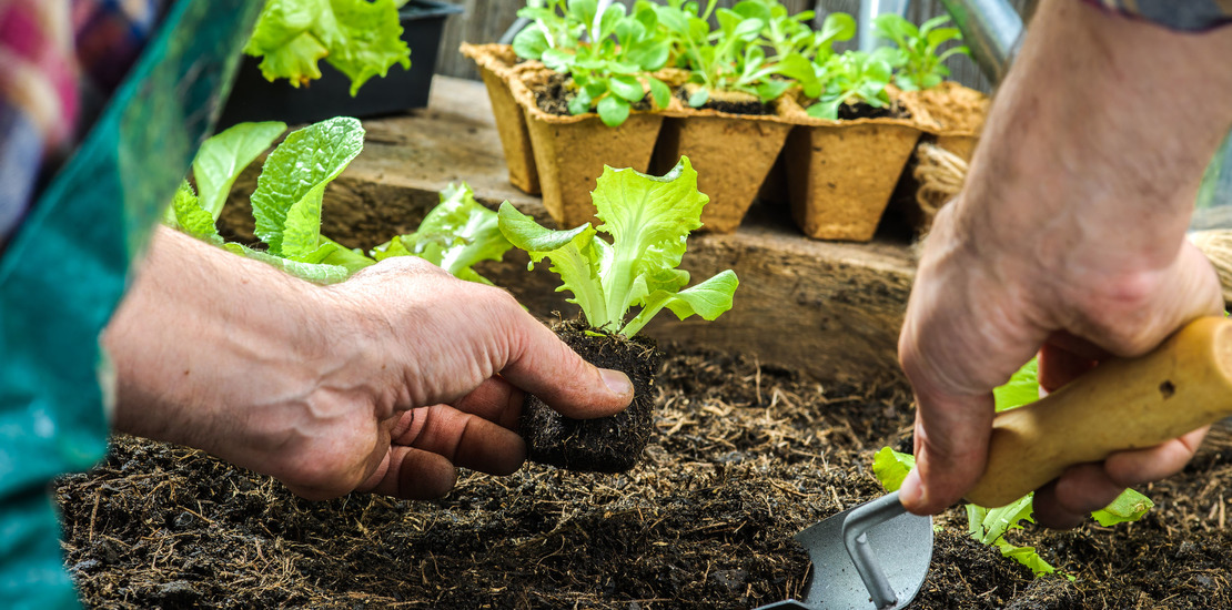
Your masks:
<instances>
[{"instance_id":1,"label":"wrinkled hand gripping the trowel's wooden handle, without the forearm","mask_svg":"<svg viewBox=\"0 0 1232 610\"><path fill-rule=\"evenodd\" d=\"M1041 388L1051 392L1109 355L1145 354L1222 307L1210 262L1188 244L1167 267L1140 275L1041 276L1035 260L962 245L955 238L960 207L944 209L934 224L899 339L918 404L917 470L902 498L918 513L938 513L975 484L988 450L992 389L1036 350ZM1126 487L1178 472L1204 433L1069 468L1036 494L1036 520L1078 525Z\"/></svg>"}]
</instances>

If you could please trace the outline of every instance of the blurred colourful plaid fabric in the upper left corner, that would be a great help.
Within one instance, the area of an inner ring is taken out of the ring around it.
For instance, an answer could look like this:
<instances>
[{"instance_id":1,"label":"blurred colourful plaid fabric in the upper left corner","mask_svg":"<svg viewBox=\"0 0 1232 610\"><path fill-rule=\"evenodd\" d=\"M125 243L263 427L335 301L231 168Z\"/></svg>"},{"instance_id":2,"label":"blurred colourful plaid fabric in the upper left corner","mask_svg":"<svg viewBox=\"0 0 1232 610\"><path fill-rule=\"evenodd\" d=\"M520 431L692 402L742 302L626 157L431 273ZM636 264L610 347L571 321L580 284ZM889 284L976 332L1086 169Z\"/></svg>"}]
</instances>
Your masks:
<instances>
[{"instance_id":1,"label":"blurred colourful plaid fabric in the upper left corner","mask_svg":"<svg viewBox=\"0 0 1232 610\"><path fill-rule=\"evenodd\" d=\"M0 251L154 31L164 0L0 0Z\"/></svg>"}]
</instances>

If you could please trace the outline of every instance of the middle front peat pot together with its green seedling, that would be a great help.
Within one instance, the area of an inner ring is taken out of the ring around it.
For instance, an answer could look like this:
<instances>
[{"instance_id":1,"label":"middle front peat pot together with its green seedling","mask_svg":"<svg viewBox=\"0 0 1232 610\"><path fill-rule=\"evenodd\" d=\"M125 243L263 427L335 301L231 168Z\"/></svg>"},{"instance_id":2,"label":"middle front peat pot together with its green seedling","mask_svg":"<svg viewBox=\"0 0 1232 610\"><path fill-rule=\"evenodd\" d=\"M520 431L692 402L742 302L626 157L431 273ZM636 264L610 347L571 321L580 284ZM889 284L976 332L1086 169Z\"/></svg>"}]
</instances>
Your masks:
<instances>
[{"instance_id":1,"label":"middle front peat pot together with its green seedling","mask_svg":"<svg viewBox=\"0 0 1232 610\"><path fill-rule=\"evenodd\" d=\"M711 197L702 230L732 233L793 128L785 95L797 78L816 79L816 59L832 55L834 42L850 39L855 20L834 12L814 31L813 11L790 14L774 0L654 10L671 44L671 68L659 74L676 87L674 104L664 110L652 169L667 171L689 157Z\"/></svg>"}]
</instances>

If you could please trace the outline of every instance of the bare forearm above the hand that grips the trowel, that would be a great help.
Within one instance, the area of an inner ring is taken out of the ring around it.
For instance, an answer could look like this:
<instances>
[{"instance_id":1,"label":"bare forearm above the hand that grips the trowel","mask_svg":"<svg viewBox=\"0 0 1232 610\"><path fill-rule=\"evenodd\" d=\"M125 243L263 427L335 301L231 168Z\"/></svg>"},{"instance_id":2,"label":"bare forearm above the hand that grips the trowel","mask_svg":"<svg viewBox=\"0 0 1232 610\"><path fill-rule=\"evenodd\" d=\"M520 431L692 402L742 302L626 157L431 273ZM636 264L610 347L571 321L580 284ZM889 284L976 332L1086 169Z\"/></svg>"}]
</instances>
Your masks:
<instances>
[{"instance_id":1,"label":"bare forearm above the hand that grips the trowel","mask_svg":"<svg viewBox=\"0 0 1232 610\"><path fill-rule=\"evenodd\" d=\"M1167 265L1232 127L1228 57L1232 28L1181 33L1045 0L998 92L963 216L989 243L1031 244L1053 271Z\"/></svg>"}]
</instances>

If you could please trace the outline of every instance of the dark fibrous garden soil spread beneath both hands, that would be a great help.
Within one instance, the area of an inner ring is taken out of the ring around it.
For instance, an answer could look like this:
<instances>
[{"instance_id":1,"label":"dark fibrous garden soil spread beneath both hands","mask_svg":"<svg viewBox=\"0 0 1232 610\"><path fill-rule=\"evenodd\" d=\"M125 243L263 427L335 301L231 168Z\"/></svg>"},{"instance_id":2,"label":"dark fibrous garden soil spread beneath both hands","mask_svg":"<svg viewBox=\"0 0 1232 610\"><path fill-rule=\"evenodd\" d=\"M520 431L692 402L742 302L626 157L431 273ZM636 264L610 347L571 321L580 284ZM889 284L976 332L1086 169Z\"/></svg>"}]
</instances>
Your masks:
<instances>
[{"instance_id":1,"label":"dark fibrous garden soil spread beneath both hands","mask_svg":"<svg viewBox=\"0 0 1232 610\"><path fill-rule=\"evenodd\" d=\"M67 562L92 608L706 608L796 595L803 527L880 493L869 465L909 444L896 384L822 387L716 352L673 351L655 434L622 474L527 465L463 473L436 502L309 503L201 452L117 437L57 487ZM1145 492L1137 524L1030 529L1076 577L1035 580L940 531L919 609L1232 608L1232 444L1217 435Z\"/></svg>"}]
</instances>

